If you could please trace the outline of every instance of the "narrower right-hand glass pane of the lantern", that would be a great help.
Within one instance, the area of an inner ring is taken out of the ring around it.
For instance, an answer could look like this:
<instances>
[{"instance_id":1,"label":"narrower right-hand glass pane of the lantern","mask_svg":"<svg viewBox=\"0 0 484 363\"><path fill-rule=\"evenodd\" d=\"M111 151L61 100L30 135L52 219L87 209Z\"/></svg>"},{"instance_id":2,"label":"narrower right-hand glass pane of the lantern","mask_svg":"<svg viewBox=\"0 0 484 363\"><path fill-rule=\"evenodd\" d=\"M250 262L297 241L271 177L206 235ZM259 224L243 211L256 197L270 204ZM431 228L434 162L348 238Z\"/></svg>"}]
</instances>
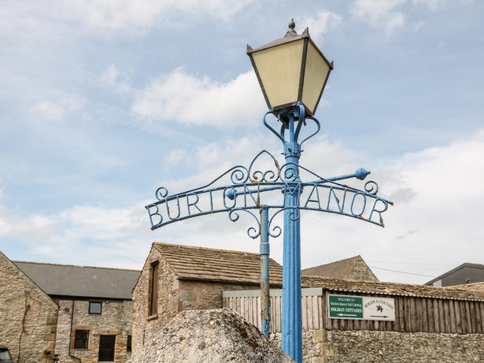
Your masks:
<instances>
[{"instance_id":1,"label":"narrower right-hand glass pane of the lantern","mask_svg":"<svg viewBox=\"0 0 484 363\"><path fill-rule=\"evenodd\" d=\"M324 86L324 81L330 71L329 64L317 51L313 41L308 41L308 53L306 53L306 71L304 73L304 85L302 102L315 113L317 101Z\"/></svg>"}]
</instances>

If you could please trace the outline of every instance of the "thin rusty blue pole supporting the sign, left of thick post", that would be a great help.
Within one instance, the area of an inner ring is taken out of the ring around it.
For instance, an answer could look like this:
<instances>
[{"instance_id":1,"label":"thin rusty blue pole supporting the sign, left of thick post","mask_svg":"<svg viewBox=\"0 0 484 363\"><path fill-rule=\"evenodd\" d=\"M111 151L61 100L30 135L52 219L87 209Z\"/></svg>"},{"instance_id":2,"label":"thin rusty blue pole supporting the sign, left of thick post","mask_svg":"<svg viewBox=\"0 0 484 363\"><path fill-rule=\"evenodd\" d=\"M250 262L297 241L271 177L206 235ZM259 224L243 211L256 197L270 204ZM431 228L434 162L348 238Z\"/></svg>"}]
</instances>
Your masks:
<instances>
[{"instance_id":1,"label":"thin rusty blue pole supporting the sign, left of thick post","mask_svg":"<svg viewBox=\"0 0 484 363\"><path fill-rule=\"evenodd\" d=\"M261 205L261 328L270 335L270 283L269 283L269 208Z\"/></svg>"}]
</instances>

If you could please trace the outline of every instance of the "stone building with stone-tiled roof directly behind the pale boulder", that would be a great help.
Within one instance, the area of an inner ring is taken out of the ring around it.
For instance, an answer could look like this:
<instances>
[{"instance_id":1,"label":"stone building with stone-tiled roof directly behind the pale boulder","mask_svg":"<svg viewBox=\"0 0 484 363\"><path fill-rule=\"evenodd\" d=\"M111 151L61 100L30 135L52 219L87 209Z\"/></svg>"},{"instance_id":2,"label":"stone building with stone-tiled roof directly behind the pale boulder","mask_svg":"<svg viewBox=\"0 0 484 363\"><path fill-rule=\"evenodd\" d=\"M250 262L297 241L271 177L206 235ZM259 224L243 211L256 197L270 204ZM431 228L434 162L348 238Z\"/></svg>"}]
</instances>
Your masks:
<instances>
[{"instance_id":1,"label":"stone building with stone-tiled roof directly behind the pale boulder","mask_svg":"<svg viewBox=\"0 0 484 363\"><path fill-rule=\"evenodd\" d=\"M259 254L153 243L133 290L133 362L178 312L221 308L223 290L257 288L260 274ZM270 286L281 284L282 266L270 259Z\"/></svg>"}]
</instances>

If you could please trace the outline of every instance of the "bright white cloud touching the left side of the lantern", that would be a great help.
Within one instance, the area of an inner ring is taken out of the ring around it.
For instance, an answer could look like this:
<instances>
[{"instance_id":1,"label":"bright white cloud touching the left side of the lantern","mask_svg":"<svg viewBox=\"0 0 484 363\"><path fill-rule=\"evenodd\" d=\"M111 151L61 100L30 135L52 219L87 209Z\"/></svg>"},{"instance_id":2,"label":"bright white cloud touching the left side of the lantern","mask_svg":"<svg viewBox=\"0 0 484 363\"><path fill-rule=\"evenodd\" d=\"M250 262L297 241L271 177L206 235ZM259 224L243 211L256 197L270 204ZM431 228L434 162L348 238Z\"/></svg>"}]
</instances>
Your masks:
<instances>
[{"instance_id":1,"label":"bright white cloud touching the left side of the lantern","mask_svg":"<svg viewBox=\"0 0 484 363\"><path fill-rule=\"evenodd\" d=\"M160 122L230 127L259 121L266 105L252 70L223 83L176 68L139 91L131 109Z\"/></svg>"}]
</instances>

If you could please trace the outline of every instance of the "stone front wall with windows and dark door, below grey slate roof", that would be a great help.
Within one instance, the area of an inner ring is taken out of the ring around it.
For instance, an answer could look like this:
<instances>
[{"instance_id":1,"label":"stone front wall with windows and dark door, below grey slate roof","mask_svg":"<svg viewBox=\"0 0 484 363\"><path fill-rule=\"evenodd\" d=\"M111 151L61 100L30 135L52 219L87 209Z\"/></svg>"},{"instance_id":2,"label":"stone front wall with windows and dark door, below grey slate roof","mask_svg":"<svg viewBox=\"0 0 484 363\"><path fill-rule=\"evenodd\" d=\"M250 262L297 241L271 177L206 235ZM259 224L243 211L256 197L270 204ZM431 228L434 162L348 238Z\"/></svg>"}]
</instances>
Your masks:
<instances>
[{"instance_id":1,"label":"stone front wall with windows and dark door, below grey slate roof","mask_svg":"<svg viewBox=\"0 0 484 363\"><path fill-rule=\"evenodd\" d=\"M78 363L80 360L83 363L97 362L100 335L116 336L115 363L131 361L131 352L127 351L127 339L132 331L132 301L102 301L100 315L89 314L89 301L85 300L75 300L74 302L73 300L60 300L59 306L55 354L60 355L60 362ZM76 329L89 330L89 348L74 348ZM69 350L69 348L71 349Z\"/></svg>"}]
</instances>

